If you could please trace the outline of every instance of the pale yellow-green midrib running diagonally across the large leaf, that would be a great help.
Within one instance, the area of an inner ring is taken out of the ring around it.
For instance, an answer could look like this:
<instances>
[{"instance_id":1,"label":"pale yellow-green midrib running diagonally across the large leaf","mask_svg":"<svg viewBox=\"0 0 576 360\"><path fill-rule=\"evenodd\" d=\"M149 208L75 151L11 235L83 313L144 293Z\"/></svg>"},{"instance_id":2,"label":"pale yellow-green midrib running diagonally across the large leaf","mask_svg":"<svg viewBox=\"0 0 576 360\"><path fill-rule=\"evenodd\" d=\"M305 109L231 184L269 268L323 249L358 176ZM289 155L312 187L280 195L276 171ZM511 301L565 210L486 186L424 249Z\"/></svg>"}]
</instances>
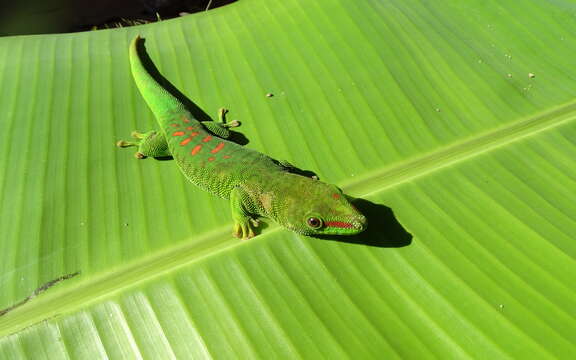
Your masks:
<instances>
[{"instance_id":1,"label":"pale yellow-green midrib running diagonally across the large leaf","mask_svg":"<svg viewBox=\"0 0 576 360\"><path fill-rule=\"evenodd\" d=\"M369 173L362 179L349 182L343 187L352 196L366 197L441 170L446 166L534 136L575 118L576 101L572 101L429 154ZM213 232L202 235L201 239L194 243L184 242L154 256L117 268L115 271L94 276L76 286L72 285L61 291L38 297L0 318L0 337L18 332L45 319L73 312L105 297L113 296L121 290L138 286L233 246L242 245L243 242L230 236L229 228L230 224L227 223ZM263 241L267 235L280 229L281 227L272 225L264 234L250 241ZM77 279L80 278L81 276Z\"/></svg>"}]
</instances>

